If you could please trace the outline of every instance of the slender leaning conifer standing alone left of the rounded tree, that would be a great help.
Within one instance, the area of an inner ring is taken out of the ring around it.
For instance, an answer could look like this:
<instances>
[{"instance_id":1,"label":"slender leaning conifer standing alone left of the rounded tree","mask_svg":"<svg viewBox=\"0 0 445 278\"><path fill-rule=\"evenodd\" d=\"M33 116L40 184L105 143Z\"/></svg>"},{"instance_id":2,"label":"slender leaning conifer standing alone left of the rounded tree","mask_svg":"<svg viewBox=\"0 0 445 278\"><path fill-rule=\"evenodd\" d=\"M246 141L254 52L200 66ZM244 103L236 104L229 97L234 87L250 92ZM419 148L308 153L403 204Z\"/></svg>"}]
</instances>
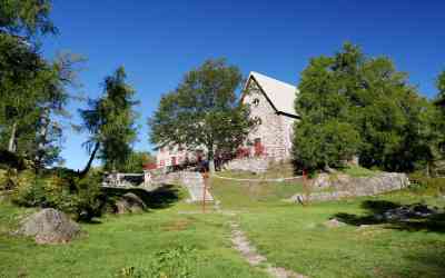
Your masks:
<instances>
[{"instance_id":1,"label":"slender leaning conifer standing alone left of the rounded tree","mask_svg":"<svg viewBox=\"0 0 445 278\"><path fill-rule=\"evenodd\" d=\"M134 106L138 102L132 100L135 91L126 83L126 78L125 69L120 67L105 79L103 96L91 100L89 109L80 110L83 127L90 133L85 143L91 153L87 171L96 151L99 151L105 170L122 169L132 152L131 145L137 135Z\"/></svg>"}]
</instances>

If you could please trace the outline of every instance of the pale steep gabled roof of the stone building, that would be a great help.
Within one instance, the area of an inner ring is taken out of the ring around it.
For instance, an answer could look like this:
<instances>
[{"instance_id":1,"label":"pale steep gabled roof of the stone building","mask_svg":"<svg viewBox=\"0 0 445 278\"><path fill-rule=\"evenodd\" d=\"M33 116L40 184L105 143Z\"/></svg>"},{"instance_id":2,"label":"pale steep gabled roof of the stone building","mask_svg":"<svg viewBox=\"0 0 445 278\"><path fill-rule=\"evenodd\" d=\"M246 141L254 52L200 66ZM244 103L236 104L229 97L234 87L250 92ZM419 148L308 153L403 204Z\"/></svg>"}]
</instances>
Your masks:
<instances>
[{"instance_id":1,"label":"pale steep gabled roof of the stone building","mask_svg":"<svg viewBox=\"0 0 445 278\"><path fill-rule=\"evenodd\" d=\"M254 79L258 83L277 112L298 117L294 108L294 102L298 93L298 89L295 86L251 71L244 89L246 89L250 79Z\"/></svg>"}]
</instances>

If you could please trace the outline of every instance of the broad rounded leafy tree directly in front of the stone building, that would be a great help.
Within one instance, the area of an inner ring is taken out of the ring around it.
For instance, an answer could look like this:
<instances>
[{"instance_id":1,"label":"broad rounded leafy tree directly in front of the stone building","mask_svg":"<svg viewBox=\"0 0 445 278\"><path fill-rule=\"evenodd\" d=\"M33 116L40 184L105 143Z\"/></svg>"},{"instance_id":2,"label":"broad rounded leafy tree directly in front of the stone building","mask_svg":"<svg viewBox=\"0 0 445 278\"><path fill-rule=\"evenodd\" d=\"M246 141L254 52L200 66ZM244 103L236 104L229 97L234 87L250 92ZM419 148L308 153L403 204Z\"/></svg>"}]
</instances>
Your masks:
<instances>
[{"instance_id":1,"label":"broad rounded leafy tree directly in front of the stone building","mask_svg":"<svg viewBox=\"0 0 445 278\"><path fill-rule=\"evenodd\" d=\"M205 147L210 168L216 151L233 151L254 126L250 110L237 101L239 69L226 61L208 60L186 73L178 88L165 95L149 119L150 139L159 147Z\"/></svg>"}]
</instances>

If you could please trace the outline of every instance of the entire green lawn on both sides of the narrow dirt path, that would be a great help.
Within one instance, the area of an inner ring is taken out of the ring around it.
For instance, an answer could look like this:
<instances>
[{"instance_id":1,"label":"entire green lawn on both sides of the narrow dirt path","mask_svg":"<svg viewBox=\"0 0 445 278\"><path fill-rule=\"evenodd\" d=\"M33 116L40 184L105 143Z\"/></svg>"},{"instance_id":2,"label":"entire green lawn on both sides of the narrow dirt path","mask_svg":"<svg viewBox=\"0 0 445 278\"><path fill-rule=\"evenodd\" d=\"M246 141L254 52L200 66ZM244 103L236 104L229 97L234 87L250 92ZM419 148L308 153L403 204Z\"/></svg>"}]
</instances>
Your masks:
<instances>
[{"instance_id":1,"label":"entire green lawn on both sides of the narrow dirt path","mask_svg":"<svg viewBox=\"0 0 445 278\"><path fill-rule=\"evenodd\" d=\"M366 218L388 203L445 207L443 197L405 191L301 207L281 201L301 191L298 182L212 178L210 185L235 216L212 209L202 215L198 205L180 200L83 224L88 235L61 246L10 236L19 216L33 209L0 202L0 277L266 277L231 248L229 220L239 221L269 262L309 277L445 277L445 217L413 224ZM326 228L334 216L350 225Z\"/></svg>"}]
</instances>

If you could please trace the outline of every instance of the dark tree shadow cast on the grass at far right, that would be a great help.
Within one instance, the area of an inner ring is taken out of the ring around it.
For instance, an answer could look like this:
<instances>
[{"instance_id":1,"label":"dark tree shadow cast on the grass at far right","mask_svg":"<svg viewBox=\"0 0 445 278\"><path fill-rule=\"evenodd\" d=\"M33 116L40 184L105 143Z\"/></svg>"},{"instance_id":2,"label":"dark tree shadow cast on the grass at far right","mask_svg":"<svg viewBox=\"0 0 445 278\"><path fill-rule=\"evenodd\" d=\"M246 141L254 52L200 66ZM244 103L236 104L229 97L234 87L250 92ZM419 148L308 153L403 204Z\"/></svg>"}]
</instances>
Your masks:
<instances>
[{"instance_id":1,"label":"dark tree shadow cast on the grass at far right","mask_svg":"<svg viewBox=\"0 0 445 278\"><path fill-rule=\"evenodd\" d=\"M408 207L421 206L418 203L408 205ZM445 212L431 214L428 216L406 215L403 217L386 217L385 214L397 210L403 206L397 202L385 200L366 200L362 202L362 208L366 209L365 215L353 215L339 212L334 217L348 225L382 225L387 224L390 229L407 231L434 231L445 232ZM407 206L404 206L407 207Z\"/></svg>"}]
</instances>

